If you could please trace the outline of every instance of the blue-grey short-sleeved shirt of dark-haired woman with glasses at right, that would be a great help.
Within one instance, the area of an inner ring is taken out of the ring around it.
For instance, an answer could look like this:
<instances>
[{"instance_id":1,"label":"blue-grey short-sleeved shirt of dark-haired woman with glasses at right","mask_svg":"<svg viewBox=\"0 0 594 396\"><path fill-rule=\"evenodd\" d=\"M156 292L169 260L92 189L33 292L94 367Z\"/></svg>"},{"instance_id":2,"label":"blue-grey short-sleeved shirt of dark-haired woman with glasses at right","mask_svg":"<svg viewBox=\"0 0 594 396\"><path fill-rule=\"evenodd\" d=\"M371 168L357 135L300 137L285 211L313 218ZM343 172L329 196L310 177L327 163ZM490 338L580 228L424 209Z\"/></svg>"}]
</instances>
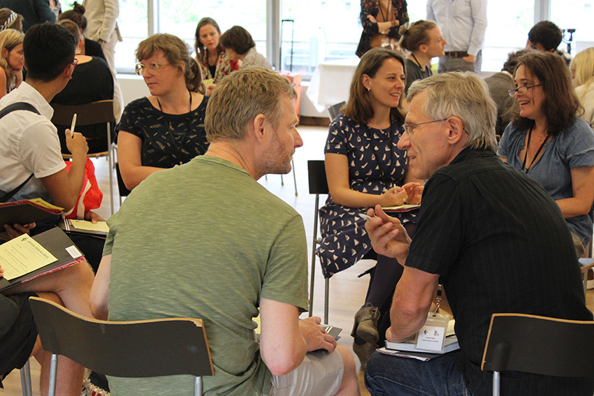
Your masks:
<instances>
[{"instance_id":1,"label":"blue-grey short-sleeved shirt of dark-haired woman with glasses at right","mask_svg":"<svg viewBox=\"0 0 594 396\"><path fill-rule=\"evenodd\" d=\"M497 154L516 169L522 168L519 153L525 146L526 132L509 124L499 142ZM553 200L572 198L571 168L580 166L594 166L594 131L583 119L576 118L573 124L546 142L542 156L530 167L528 176L539 182ZM591 217L582 214L565 221L586 246L592 238Z\"/></svg>"}]
</instances>

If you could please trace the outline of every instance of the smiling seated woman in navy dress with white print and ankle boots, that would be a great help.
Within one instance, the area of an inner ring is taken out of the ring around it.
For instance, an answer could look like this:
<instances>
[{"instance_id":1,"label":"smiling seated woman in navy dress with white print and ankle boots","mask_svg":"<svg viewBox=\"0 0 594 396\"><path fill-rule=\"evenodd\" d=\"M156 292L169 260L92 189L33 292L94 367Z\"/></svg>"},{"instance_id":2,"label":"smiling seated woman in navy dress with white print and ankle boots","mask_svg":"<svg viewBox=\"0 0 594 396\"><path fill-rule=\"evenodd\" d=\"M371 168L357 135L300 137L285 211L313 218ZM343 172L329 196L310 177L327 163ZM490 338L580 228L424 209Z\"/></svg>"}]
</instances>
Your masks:
<instances>
[{"instance_id":1,"label":"smiling seated woman in navy dress with white print and ankle boots","mask_svg":"<svg viewBox=\"0 0 594 396\"><path fill-rule=\"evenodd\" d=\"M397 146L404 133L404 115L399 109L406 82L404 65L403 57L391 50L365 52L354 73L349 101L330 124L324 149L330 195L319 211L322 240L317 249L326 278L370 251L365 219L360 216L369 207L421 201L422 181L407 173L406 152ZM403 188L405 184L407 189ZM416 211L396 217L412 235ZM378 255L368 296L355 316L352 333L353 348L362 365L385 337L385 329L377 328L379 312L387 312L382 306L389 306L402 272L396 259Z\"/></svg>"}]
</instances>

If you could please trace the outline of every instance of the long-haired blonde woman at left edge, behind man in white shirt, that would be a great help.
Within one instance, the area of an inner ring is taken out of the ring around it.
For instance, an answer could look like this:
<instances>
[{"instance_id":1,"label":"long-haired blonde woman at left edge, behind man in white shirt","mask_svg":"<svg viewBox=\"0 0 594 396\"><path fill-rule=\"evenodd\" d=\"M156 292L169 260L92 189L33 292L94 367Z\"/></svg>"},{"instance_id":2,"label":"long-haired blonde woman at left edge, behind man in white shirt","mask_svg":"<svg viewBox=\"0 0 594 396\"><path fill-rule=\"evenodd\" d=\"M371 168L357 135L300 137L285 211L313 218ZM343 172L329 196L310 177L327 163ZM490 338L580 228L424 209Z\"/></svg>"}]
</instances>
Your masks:
<instances>
[{"instance_id":1,"label":"long-haired blonde woman at left edge, behind man in white shirt","mask_svg":"<svg viewBox=\"0 0 594 396\"><path fill-rule=\"evenodd\" d=\"M22 82L24 34L15 29L0 31L0 98Z\"/></svg>"}]
</instances>

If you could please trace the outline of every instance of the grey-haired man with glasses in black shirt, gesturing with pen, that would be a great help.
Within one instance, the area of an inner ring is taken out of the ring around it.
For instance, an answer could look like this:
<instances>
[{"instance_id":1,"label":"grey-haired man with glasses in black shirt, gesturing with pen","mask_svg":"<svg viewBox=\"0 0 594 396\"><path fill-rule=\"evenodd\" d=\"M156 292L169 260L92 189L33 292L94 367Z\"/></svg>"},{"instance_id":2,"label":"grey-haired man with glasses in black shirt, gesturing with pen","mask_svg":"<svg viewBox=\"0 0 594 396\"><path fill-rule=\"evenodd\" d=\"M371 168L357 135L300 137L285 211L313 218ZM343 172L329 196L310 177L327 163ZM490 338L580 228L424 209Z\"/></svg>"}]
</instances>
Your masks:
<instances>
[{"instance_id":1,"label":"grey-haired man with glasses in black shirt, gesturing with pen","mask_svg":"<svg viewBox=\"0 0 594 396\"><path fill-rule=\"evenodd\" d=\"M437 75L414 82L407 99L398 147L412 175L428 179L414 240L379 206L365 223L373 249L405 267L386 339L415 335L442 284L460 350L428 362L376 352L365 385L372 395L491 395L480 367L492 314L592 320L572 238L549 194L495 154L496 109L483 80ZM501 386L503 395L594 393L593 378L504 373Z\"/></svg>"}]
</instances>

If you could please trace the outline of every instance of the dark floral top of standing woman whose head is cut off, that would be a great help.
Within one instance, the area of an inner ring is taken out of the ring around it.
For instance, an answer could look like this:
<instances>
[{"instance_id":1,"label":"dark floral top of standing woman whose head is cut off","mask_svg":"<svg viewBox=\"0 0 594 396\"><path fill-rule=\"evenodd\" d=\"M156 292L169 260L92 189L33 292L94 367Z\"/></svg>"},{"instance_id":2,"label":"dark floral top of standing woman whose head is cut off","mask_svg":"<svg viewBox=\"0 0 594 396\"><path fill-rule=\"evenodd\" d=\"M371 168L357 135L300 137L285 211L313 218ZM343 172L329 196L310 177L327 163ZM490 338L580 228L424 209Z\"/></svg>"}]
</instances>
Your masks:
<instances>
[{"instance_id":1,"label":"dark floral top of standing woman whose head is cut off","mask_svg":"<svg viewBox=\"0 0 594 396\"><path fill-rule=\"evenodd\" d=\"M397 41L400 40L400 33L398 33L398 30L400 30L400 27L403 26L403 24L408 22L406 6L407 4L405 0L392 0L390 11L393 10L393 19L398 20L400 24L398 24L398 26L391 27L387 36L395 38ZM368 52L371 49L371 38L374 34L379 33L377 23L371 22L367 17L368 15L372 15L377 19L378 13L379 0L361 0L361 24L363 25L363 33L361 33L361 39L359 40L359 45L355 52L358 57L362 57L365 52ZM389 17L392 17L392 15L389 15Z\"/></svg>"}]
</instances>

